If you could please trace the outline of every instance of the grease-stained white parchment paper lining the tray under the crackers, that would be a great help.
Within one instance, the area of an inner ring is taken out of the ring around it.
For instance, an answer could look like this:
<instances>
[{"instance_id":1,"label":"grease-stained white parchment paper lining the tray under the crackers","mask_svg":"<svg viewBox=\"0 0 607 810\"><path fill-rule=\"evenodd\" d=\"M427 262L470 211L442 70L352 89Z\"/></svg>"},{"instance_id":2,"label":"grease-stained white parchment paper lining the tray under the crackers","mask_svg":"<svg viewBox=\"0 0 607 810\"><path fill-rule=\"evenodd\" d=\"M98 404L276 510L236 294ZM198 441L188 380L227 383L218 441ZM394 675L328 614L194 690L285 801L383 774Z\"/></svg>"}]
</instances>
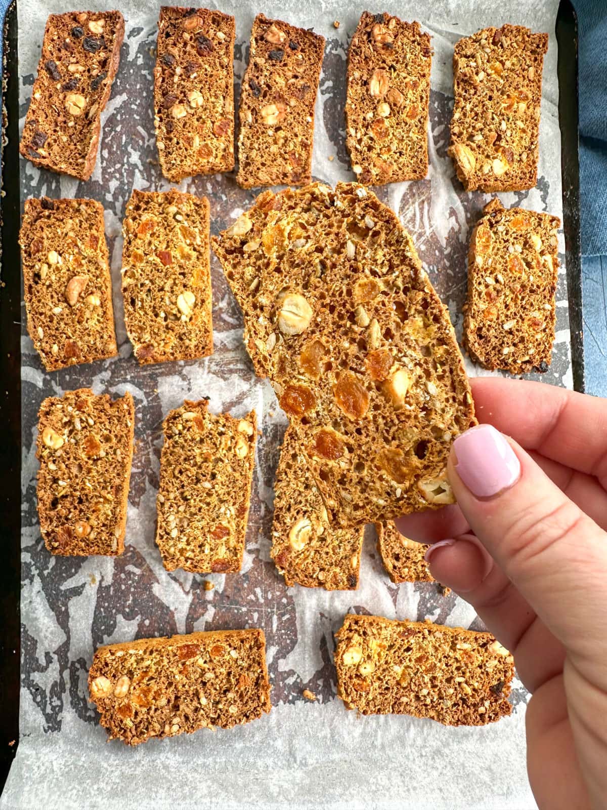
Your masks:
<instances>
[{"instance_id":1,"label":"grease-stained white parchment paper lining the tray under the crackers","mask_svg":"<svg viewBox=\"0 0 607 810\"><path fill-rule=\"evenodd\" d=\"M107 7L87 2L92 9ZM562 216L558 130L557 0L503 3L468 0L431 5L412 0L383 8L418 19L431 33L431 168L424 181L384 186L380 198L393 207L414 237L420 258L448 303L461 336L466 250L488 196L466 194L456 180L448 147L452 106L452 47L486 25L523 23L550 33L545 59L540 167L537 188L500 195ZM19 4L20 124L28 108L49 11L40 0ZM337 2L222 2L236 15L237 91L257 11L276 15L327 38L316 105L312 173L334 185L350 180L344 143L347 42L365 6ZM240 310L213 258L214 355L205 360L148 366L131 356L120 290L121 219L133 188L166 190L156 163L151 106L158 8L150 2L121 4L125 44L112 99L104 113L100 157L87 183L40 171L21 161L22 198L90 196L105 208L120 357L45 373L25 330L23 309L23 591L21 739L0 807L207 808L247 806L316 808L533 808L524 764L524 708L520 683L514 712L484 728L444 728L406 717L360 718L335 697L333 633L346 612L370 612L480 629L472 608L455 595L442 597L432 583L395 586L375 549L371 529L355 592L325 593L286 588L270 561L272 481L286 420L270 385L258 380L242 345ZM339 20L339 28L333 20ZM331 160L331 158L333 160ZM213 232L248 207L253 194L232 176L197 177L180 188L206 194ZM567 285L561 241L557 290L557 340L544 382L571 387ZM471 373L486 373L469 365ZM528 375L533 376L533 375ZM136 447L129 493L125 553L117 559L52 557L40 539L36 516L34 458L36 412L45 396L79 386L114 396L129 390L136 403ZM161 422L185 397L210 396L210 409L236 416L255 407L260 438L253 483L247 550L240 575L207 577L166 572L155 548ZM204 580L214 590L204 590ZM87 702L87 670L101 644L134 637L194 630L261 626L267 637L274 708L269 716L232 731L201 731L152 740L135 749L104 744L105 731ZM318 696L304 701L302 691Z\"/></svg>"}]
</instances>

